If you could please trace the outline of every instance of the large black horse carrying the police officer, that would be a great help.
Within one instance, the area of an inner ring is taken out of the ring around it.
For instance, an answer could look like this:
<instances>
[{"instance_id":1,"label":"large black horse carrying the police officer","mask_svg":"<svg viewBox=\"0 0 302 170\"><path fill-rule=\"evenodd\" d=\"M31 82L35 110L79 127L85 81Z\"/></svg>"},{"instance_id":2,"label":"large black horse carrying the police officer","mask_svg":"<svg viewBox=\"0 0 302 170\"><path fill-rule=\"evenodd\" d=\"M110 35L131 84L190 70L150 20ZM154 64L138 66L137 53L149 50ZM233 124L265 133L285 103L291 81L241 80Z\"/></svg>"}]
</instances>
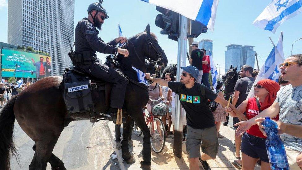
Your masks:
<instances>
[{"instance_id":1,"label":"large black horse carrying the police officer","mask_svg":"<svg viewBox=\"0 0 302 170\"><path fill-rule=\"evenodd\" d=\"M129 56L125 58L119 54L117 60L124 74L134 81L138 81L138 77L132 66L146 72L145 56L153 60L154 63L157 62L158 65L164 64L166 66L168 63L155 35L150 33L149 24L145 32L129 38L123 48L129 51ZM0 114L0 170L10 168L10 156L15 153L13 143L15 119L24 132L35 141L32 148L35 154L29 165L30 170L45 170L47 162L51 164L52 169L66 169L64 163L52 153L65 127L64 123L66 123L68 114L63 99L63 91L62 77L45 77L28 86L18 96L12 97L3 108ZM150 169L150 132L142 113L142 108L149 99L148 88L130 81L126 88L126 96L123 115L130 116L142 130L144 134L142 150L144 160L141 162L141 168ZM102 101L96 103L95 109L98 113L104 113L106 108L100 103ZM122 156L127 163L135 161L128 148L130 117L127 117L127 122L123 124Z\"/></svg>"}]
</instances>

